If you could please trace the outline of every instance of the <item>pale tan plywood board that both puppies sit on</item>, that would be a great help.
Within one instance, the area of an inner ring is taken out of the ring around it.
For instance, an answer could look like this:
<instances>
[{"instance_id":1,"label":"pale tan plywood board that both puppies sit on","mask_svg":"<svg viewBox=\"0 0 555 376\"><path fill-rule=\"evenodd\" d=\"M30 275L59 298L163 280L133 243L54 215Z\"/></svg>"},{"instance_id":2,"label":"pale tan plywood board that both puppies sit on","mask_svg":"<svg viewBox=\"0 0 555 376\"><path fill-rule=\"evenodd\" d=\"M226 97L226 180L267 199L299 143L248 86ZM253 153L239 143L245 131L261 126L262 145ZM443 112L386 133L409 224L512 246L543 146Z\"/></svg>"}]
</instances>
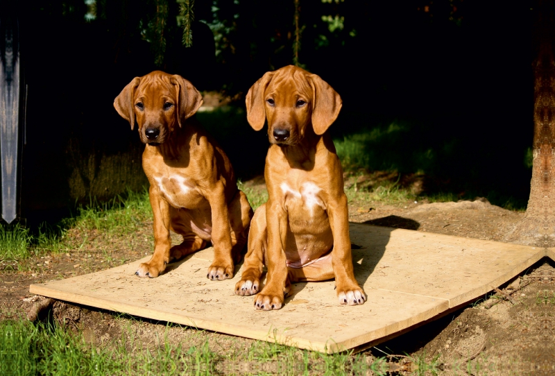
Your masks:
<instances>
[{"instance_id":1,"label":"pale tan plywood board that both puppies sit on","mask_svg":"<svg viewBox=\"0 0 555 376\"><path fill-rule=\"evenodd\" d=\"M31 293L215 332L336 352L379 341L498 287L546 255L527 246L410 230L350 225L355 274L368 302L339 305L334 282L293 284L279 311L235 296L241 268L206 279L212 248L170 264L154 279L134 275L150 257L98 273L31 285Z\"/></svg>"}]
</instances>

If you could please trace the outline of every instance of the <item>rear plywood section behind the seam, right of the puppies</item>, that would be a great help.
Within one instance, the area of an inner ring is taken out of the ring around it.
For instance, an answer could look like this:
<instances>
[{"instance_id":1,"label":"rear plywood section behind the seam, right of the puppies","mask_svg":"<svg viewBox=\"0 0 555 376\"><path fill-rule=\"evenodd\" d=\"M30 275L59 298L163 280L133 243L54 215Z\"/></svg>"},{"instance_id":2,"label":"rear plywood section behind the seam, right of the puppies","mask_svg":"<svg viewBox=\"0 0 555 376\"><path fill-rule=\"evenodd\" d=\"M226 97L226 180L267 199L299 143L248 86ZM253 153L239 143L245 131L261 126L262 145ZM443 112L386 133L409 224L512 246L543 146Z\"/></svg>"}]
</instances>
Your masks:
<instances>
[{"instance_id":1,"label":"rear plywood section behind the seam, right of the puppies","mask_svg":"<svg viewBox=\"0 0 555 376\"><path fill-rule=\"evenodd\" d=\"M447 299L450 307L499 287L545 257L543 248L354 224L351 242L367 247L352 252L365 287Z\"/></svg>"}]
</instances>

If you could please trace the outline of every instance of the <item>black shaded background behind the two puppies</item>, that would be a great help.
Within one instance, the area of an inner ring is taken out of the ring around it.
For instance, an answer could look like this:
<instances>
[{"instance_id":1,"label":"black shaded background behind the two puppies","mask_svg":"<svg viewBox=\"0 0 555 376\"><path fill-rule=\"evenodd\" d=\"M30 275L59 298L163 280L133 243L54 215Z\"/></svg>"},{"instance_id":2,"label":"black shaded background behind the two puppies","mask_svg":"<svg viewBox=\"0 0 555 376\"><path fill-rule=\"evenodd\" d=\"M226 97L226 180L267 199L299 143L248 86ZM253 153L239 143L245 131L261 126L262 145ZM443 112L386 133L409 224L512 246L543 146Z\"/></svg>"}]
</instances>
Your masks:
<instances>
[{"instance_id":1,"label":"black shaded background behind the two puppies","mask_svg":"<svg viewBox=\"0 0 555 376\"><path fill-rule=\"evenodd\" d=\"M87 22L83 1L12 1L29 88L24 215L48 219L75 203L146 184L136 130L112 107L133 77L154 69L180 74L201 91L237 96L241 109L255 80L293 61L292 0L197 0L189 49L180 43L178 4L168 1L167 46L157 67L153 42L144 37L156 3L97 0L97 17ZM300 0L300 6L299 62L343 98L334 137L403 121L401 137L372 146L384 158L376 166L423 169L429 191L493 191L525 204L533 3ZM323 15L343 17L343 28L331 31ZM262 173L268 146L266 134L245 118L235 111L208 119L244 179ZM434 151L432 164L405 157L418 148ZM103 175L110 158L124 171Z\"/></svg>"}]
</instances>

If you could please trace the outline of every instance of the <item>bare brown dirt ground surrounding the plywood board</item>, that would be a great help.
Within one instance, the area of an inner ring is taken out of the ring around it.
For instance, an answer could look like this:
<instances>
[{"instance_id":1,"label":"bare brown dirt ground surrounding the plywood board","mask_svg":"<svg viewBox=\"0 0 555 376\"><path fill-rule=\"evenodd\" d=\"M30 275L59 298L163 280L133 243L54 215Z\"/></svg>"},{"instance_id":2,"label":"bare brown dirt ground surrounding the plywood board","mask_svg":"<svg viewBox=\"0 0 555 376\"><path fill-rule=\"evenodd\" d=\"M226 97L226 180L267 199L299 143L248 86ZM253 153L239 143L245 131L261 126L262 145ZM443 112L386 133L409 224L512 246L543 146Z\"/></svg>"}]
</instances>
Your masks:
<instances>
[{"instance_id":1,"label":"bare brown dirt ground surrounding the plywood board","mask_svg":"<svg viewBox=\"0 0 555 376\"><path fill-rule=\"evenodd\" d=\"M263 182L253 180L247 186L262 189ZM502 241L504 229L514 225L522 212L504 210L487 200L459 203L427 203L406 200L386 204L359 200L349 207L350 220L370 225L407 228L459 237ZM33 283L92 273L138 259L152 250L152 223L143 223L133 235L107 236L95 231L69 232L75 245L68 253L34 257L26 262L28 271L0 274L0 320L26 315L33 305L28 287ZM177 241L177 239L176 239ZM448 260L446 260L448 262ZM421 327L366 350L368 359L385 354L408 354L435 364L441 375L554 375L555 374L555 269L544 259L493 296L474 302ZM86 341L98 345L133 337L135 346L151 347L167 339L170 343L200 345L227 354L246 352L249 339L199 332L140 318L112 314L56 302L53 318L71 330L81 330ZM130 350L133 350L131 348ZM411 365L404 357L393 359Z\"/></svg>"}]
</instances>

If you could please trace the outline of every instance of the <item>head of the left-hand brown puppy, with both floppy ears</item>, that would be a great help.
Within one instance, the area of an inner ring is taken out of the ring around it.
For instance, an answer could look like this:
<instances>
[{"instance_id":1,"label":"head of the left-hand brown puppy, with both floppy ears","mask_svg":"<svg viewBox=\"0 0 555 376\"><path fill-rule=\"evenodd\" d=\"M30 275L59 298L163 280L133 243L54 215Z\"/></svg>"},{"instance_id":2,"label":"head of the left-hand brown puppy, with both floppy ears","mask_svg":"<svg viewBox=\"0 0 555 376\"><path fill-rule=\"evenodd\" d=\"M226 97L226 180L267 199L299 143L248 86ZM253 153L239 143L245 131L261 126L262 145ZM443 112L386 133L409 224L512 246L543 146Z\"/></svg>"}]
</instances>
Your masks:
<instances>
[{"instance_id":1,"label":"head of the left-hand brown puppy, with both floppy ears","mask_svg":"<svg viewBox=\"0 0 555 376\"><path fill-rule=\"evenodd\" d=\"M135 128L145 144L160 145L203 103L198 90L181 76L153 71L135 77L114 100L118 114Z\"/></svg>"}]
</instances>

